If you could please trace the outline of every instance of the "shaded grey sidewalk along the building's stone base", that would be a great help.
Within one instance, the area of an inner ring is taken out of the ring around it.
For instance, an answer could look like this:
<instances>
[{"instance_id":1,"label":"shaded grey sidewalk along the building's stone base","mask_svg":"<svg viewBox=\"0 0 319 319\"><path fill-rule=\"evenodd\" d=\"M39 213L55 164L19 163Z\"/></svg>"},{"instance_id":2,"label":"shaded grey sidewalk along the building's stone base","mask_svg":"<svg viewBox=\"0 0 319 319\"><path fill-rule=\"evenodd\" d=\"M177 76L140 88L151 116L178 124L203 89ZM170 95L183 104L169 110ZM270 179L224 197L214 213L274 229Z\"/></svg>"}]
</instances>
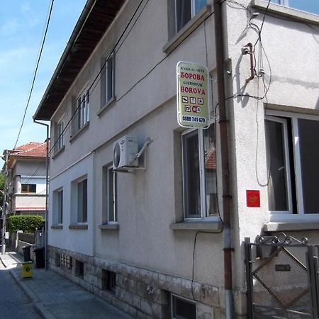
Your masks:
<instances>
[{"instance_id":1,"label":"shaded grey sidewalk along the building's stone base","mask_svg":"<svg viewBox=\"0 0 319 319\"><path fill-rule=\"evenodd\" d=\"M129 315L108 305L60 274L33 268L32 278L22 278L23 258L15 252L0 254L1 262L46 319L129 319Z\"/></svg>"}]
</instances>

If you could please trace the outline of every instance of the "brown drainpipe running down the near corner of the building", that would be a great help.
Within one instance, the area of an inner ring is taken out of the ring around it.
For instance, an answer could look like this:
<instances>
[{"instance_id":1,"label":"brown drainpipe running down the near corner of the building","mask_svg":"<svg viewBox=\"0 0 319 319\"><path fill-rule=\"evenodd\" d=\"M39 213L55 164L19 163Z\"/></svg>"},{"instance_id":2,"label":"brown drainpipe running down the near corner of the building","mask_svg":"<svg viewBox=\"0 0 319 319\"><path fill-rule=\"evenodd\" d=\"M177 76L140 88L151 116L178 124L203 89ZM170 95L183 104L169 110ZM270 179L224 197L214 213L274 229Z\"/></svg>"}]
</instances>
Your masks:
<instances>
[{"instance_id":1,"label":"brown drainpipe running down the near corner of the building","mask_svg":"<svg viewBox=\"0 0 319 319\"><path fill-rule=\"evenodd\" d=\"M228 155L227 112L225 104L224 82L224 38L223 16L221 0L213 0L215 40L216 40L216 70L218 83L218 108L220 130L220 157L223 185L223 251L224 251L224 280L225 280L225 311L226 318L233 318L233 278L232 278L232 242L231 242L231 216L230 216L230 169Z\"/></svg>"}]
</instances>

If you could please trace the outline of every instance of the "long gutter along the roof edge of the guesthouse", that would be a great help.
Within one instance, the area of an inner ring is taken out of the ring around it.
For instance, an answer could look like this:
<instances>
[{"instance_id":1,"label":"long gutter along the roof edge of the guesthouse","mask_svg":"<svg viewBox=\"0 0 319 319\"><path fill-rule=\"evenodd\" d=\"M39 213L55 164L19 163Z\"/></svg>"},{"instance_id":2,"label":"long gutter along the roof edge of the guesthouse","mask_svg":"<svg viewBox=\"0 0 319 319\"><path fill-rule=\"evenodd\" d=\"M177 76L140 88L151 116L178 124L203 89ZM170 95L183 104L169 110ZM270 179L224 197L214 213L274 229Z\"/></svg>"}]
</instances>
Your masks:
<instances>
[{"instance_id":1,"label":"long gutter along the roof edge of the guesthouse","mask_svg":"<svg viewBox=\"0 0 319 319\"><path fill-rule=\"evenodd\" d=\"M47 89L45 90L45 93L43 94L43 98L41 99L39 106L38 106L37 110L35 111L35 114L33 116L33 120L40 120L41 119L41 118L37 118L38 112L40 111L40 108L42 107L43 103L45 103L47 97L50 95L52 86L55 83L55 80L59 77L59 74L60 74L61 70L63 69L63 66L65 65L67 57L69 56L69 52L72 50L72 47L74 47L74 43L76 42L79 34L81 33L81 30L84 26L84 23L85 23L86 19L88 18L89 13L90 13L91 9L93 8L95 2L96 2L96 0L88 0L86 2L84 9L81 13L81 16L79 17L79 20L77 21L77 25L74 27L74 30L72 32L71 37L69 38L67 46L65 47L65 50L62 53L60 61L57 64L57 67L55 68L55 72L53 73L53 75L50 79L50 82L47 85ZM45 121L48 121L48 120L45 120ZM36 122L36 123L38 123L38 122Z\"/></svg>"}]
</instances>

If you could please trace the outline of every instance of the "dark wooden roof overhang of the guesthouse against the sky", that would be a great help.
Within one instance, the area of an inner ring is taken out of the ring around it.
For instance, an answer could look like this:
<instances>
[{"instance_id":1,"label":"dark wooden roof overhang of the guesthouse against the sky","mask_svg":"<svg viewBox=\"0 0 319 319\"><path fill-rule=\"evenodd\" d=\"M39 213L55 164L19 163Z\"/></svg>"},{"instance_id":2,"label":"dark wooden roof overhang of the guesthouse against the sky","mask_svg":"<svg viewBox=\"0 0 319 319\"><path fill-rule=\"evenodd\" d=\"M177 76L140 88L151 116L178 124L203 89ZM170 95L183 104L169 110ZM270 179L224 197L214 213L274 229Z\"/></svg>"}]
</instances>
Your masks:
<instances>
[{"instance_id":1,"label":"dark wooden roof overhang of the guesthouse against the sky","mask_svg":"<svg viewBox=\"0 0 319 319\"><path fill-rule=\"evenodd\" d=\"M35 120L49 121L125 0L87 0L42 100Z\"/></svg>"}]
</instances>

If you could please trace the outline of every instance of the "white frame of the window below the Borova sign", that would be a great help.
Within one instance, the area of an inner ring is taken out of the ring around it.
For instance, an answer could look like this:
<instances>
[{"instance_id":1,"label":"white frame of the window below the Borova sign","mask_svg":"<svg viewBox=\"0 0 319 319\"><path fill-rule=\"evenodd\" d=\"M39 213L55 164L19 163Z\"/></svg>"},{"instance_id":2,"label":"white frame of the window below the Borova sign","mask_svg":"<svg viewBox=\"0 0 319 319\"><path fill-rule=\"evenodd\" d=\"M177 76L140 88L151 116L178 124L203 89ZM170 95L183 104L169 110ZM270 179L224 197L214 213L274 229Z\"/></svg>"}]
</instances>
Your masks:
<instances>
[{"instance_id":1,"label":"white frame of the window below the Borova sign","mask_svg":"<svg viewBox=\"0 0 319 319\"><path fill-rule=\"evenodd\" d=\"M211 124L212 125L212 124ZM197 131L197 132L196 132ZM199 151L199 177L200 177L200 196L201 196L201 216L198 217L187 217L186 216L186 172L185 172L185 155L184 155L184 137L191 133L196 132L198 135L198 151ZM205 155L204 155L204 136L203 136L203 128L192 128L190 130L185 130L181 134L181 164L182 164L182 179L183 179L183 211L184 211L184 220L187 221L198 221L198 220L207 220L213 221L218 218L218 212L216 211L213 215L209 215L207 211L206 205L206 176L205 176ZM216 178L217 177L217 167L216 167ZM217 195L218 197L218 195ZM217 198L218 200L218 198Z\"/></svg>"}]
</instances>

